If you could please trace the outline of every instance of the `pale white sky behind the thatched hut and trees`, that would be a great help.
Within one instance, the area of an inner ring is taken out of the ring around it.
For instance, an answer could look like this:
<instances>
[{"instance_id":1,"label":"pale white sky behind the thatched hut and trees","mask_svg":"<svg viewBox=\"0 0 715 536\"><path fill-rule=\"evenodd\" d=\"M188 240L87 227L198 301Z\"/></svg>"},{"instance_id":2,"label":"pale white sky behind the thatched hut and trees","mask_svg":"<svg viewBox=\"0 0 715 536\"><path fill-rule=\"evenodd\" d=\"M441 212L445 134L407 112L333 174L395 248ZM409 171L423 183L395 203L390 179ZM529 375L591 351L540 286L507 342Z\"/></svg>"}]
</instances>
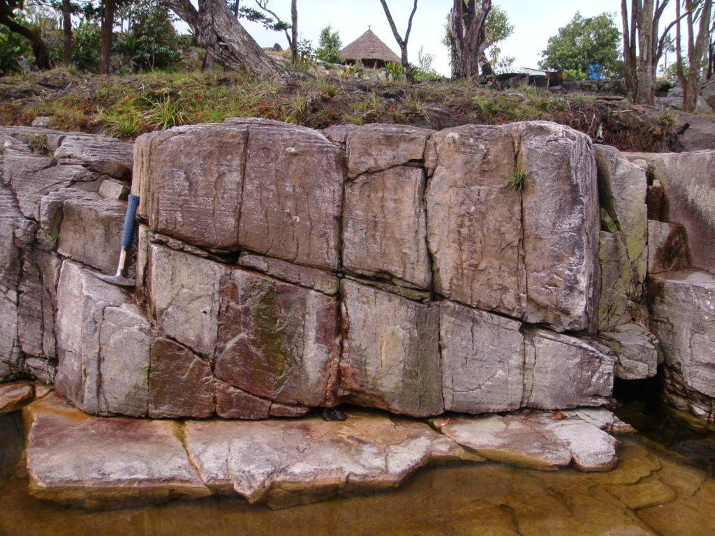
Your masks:
<instances>
[{"instance_id":1,"label":"pale white sky behind the thatched hut and trees","mask_svg":"<svg viewBox=\"0 0 715 536\"><path fill-rule=\"evenodd\" d=\"M252 6L255 0L242 0L242 6ZM413 28L408 41L408 58L418 64L418 51L434 54L432 67L436 71L450 74L449 53L441 43L447 14L452 0L418 0L418 8L413 19ZM555 35L561 26L568 24L576 11L583 16L595 16L608 11L615 14L618 27L621 26L621 0L494 0L494 5L506 11L514 26L514 33L499 46L503 54L514 56L514 69L537 68L541 60L540 52L546 48L548 38ZM413 0L388 0L395 24L404 36ZM269 0L268 7L283 20L290 22L290 0ZM340 32L342 45L357 39L370 27L395 54L400 48L395 41L380 0L298 0L298 29L300 39L312 41L317 47L320 30L330 24L332 31ZM665 17L664 17L665 18ZM267 31L260 24L242 21L247 31L261 46L274 43L287 48L283 32Z\"/></svg>"}]
</instances>

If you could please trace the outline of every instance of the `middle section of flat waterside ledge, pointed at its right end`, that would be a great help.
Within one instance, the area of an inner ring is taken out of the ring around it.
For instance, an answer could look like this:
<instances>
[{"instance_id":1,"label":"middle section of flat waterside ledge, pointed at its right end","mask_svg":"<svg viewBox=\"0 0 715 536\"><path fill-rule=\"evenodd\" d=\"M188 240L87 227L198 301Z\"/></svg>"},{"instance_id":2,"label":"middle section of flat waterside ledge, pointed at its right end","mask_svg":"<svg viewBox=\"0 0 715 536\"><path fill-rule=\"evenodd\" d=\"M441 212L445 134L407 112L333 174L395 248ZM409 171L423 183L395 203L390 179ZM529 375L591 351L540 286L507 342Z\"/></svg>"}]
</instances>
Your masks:
<instances>
[{"instance_id":1,"label":"middle section of flat waterside ledge, pointed at its right end","mask_svg":"<svg viewBox=\"0 0 715 536\"><path fill-rule=\"evenodd\" d=\"M423 423L365 412L345 422L190 421L185 437L208 487L272 508L396 487L430 461L469 458Z\"/></svg>"}]
</instances>

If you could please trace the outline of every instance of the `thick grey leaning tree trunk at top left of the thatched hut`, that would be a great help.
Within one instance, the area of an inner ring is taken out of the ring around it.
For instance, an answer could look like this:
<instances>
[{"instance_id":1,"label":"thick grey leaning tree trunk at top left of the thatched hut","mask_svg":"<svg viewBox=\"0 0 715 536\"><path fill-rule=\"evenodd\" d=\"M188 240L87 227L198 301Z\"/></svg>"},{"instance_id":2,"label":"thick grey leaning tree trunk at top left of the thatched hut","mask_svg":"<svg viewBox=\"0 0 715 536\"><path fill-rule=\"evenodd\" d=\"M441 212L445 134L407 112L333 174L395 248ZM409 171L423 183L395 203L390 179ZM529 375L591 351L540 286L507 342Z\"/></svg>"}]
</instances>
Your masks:
<instances>
[{"instance_id":1,"label":"thick grey leaning tree trunk at top left of the thatched hut","mask_svg":"<svg viewBox=\"0 0 715 536\"><path fill-rule=\"evenodd\" d=\"M224 69L246 71L255 76L287 76L282 66L270 59L245 31L223 0L159 0L186 22L199 46Z\"/></svg>"}]
</instances>

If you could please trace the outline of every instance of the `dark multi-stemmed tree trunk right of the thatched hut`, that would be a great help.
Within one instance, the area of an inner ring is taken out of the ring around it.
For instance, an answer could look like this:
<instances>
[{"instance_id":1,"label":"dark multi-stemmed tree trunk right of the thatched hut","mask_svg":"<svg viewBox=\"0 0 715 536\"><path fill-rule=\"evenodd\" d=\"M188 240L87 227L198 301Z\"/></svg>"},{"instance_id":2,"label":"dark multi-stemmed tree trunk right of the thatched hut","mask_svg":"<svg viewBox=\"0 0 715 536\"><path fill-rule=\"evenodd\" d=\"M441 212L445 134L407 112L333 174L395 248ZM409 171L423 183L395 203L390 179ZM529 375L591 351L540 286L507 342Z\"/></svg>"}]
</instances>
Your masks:
<instances>
[{"instance_id":1,"label":"dark multi-stemmed tree trunk right of the thatched hut","mask_svg":"<svg viewBox=\"0 0 715 536\"><path fill-rule=\"evenodd\" d=\"M495 41L486 41L486 20L491 0L454 0L449 14L448 38L452 78L479 76L480 59Z\"/></svg>"}]
</instances>

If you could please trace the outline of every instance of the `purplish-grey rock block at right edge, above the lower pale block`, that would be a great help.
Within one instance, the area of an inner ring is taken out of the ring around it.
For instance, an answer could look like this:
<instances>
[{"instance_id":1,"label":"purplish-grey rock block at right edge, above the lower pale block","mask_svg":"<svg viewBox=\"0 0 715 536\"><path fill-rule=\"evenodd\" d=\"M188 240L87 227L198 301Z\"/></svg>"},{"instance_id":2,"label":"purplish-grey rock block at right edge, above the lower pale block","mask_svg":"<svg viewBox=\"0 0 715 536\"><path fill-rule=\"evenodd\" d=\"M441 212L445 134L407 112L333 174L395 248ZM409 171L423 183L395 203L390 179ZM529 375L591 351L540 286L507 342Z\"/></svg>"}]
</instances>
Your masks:
<instances>
[{"instance_id":1,"label":"purplish-grey rock block at right edge, above the lower pale block","mask_svg":"<svg viewBox=\"0 0 715 536\"><path fill-rule=\"evenodd\" d=\"M661 219L685 227L692 267L715 272L715 151L659 155L653 177L665 203Z\"/></svg>"}]
</instances>

